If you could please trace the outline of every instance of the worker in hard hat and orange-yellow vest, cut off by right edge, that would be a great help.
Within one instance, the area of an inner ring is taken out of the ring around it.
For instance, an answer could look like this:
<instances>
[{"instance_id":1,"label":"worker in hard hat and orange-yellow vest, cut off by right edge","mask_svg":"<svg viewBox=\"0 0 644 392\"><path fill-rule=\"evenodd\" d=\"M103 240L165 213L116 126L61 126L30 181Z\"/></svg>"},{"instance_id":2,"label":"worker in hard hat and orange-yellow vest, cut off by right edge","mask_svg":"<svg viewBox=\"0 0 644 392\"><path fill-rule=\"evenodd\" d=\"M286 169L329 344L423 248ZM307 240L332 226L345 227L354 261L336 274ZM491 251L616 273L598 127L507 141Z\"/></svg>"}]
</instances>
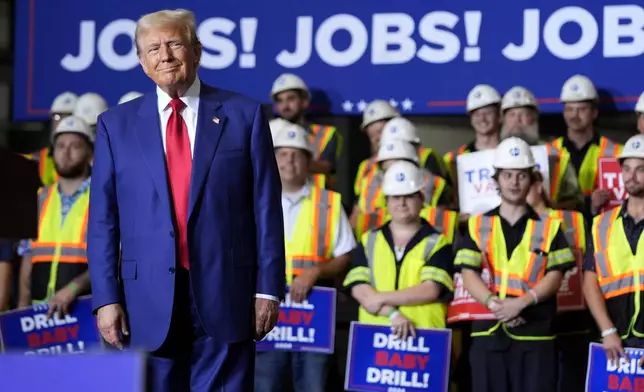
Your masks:
<instances>
[{"instance_id":1,"label":"worker in hard hat and orange-yellow vest, cut off by right edge","mask_svg":"<svg viewBox=\"0 0 644 392\"><path fill-rule=\"evenodd\" d=\"M628 359L624 347L644 348L644 135L628 139L618 159L629 197L594 218L584 258L584 296L613 363Z\"/></svg>"}]
</instances>

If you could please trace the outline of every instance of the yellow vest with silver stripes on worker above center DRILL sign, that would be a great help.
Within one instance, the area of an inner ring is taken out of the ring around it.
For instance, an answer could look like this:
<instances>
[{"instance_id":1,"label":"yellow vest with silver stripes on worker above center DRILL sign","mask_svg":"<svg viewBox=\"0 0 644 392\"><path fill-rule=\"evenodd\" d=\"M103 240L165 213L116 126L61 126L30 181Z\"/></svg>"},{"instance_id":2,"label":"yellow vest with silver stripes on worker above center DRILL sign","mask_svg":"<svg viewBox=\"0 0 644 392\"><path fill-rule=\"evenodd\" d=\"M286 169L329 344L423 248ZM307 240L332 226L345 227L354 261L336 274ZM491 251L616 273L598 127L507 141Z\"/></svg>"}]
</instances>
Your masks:
<instances>
[{"instance_id":1,"label":"yellow vest with silver stripes on worker above center DRILL sign","mask_svg":"<svg viewBox=\"0 0 644 392\"><path fill-rule=\"evenodd\" d=\"M407 252L401 262L396 262L396 255L387 243L382 230L365 233L361 242L369 266L356 267L349 271L344 280L345 286L355 282L369 282L377 291L395 291L432 280L441 283L449 290L454 290L452 277L447 271L425 265L438 250L444 246L451 246L441 234L434 233L425 237ZM445 328L447 317L445 303L399 306L398 310L417 328ZM358 311L358 320L361 323L377 325L391 324L387 317L374 316L363 307Z\"/></svg>"}]
</instances>

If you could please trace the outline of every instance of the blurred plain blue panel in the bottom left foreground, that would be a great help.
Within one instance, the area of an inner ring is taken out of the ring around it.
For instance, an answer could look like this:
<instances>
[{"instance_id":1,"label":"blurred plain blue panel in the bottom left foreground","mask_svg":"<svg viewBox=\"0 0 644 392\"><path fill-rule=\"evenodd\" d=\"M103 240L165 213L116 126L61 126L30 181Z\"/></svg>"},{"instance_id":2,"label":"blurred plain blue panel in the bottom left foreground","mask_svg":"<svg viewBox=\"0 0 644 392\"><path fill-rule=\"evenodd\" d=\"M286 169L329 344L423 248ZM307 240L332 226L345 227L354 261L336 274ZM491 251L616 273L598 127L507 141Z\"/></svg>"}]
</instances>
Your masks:
<instances>
[{"instance_id":1,"label":"blurred plain blue panel in the bottom left foreground","mask_svg":"<svg viewBox=\"0 0 644 392\"><path fill-rule=\"evenodd\" d=\"M143 392L145 355L126 351L59 357L0 355L3 391Z\"/></svg>"}]
</instances>

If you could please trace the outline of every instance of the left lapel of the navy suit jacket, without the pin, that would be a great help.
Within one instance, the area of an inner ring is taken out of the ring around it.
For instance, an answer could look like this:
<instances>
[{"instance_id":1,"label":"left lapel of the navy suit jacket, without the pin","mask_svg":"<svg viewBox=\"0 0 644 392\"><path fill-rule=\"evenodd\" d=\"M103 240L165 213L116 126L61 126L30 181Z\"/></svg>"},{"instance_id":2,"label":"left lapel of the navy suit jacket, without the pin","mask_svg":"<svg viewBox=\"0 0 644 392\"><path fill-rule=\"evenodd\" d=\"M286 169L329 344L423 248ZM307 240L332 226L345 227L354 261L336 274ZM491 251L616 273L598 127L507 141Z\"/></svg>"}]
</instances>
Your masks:
<instances>
[{"instance_id":1,"label":"left lapel of the navy suit jacket, without the pin","mask_svg":"<svg viewBox=\"0 0 644 392\"><path fill-rule=\"evenodd\" d=\"M156 94L145 96L141 103L135 125L135 132L143 160L150 171L154 186L163 203L170 206L168 179L166 175L165 152L161 139L161 124L157 108Z\"/></svg>"}]
</instances>

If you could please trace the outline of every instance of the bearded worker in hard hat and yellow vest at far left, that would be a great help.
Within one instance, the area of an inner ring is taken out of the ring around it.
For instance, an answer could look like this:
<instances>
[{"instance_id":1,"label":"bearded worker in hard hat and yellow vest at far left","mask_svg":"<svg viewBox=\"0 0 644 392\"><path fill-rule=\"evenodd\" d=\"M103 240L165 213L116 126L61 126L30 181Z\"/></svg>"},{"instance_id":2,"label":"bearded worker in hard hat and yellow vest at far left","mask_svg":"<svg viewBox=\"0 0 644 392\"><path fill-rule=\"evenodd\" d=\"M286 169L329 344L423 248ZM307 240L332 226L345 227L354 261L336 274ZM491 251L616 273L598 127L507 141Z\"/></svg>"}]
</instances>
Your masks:
<instances>
[{"instance_id":1,"label":"bearded worker in hard hat and yellow vest at far left","mask_svg":"<svg viewBox=\"0 0 644 392\"><path fill-rule=\"evenodd\" d=\"M90 292L87 214L94 133L81 118L64 118L51 138L59 180L38 194L38 238L22 241L19 307L48 303L67 314Z\"/></svg>"}]
</instances>

